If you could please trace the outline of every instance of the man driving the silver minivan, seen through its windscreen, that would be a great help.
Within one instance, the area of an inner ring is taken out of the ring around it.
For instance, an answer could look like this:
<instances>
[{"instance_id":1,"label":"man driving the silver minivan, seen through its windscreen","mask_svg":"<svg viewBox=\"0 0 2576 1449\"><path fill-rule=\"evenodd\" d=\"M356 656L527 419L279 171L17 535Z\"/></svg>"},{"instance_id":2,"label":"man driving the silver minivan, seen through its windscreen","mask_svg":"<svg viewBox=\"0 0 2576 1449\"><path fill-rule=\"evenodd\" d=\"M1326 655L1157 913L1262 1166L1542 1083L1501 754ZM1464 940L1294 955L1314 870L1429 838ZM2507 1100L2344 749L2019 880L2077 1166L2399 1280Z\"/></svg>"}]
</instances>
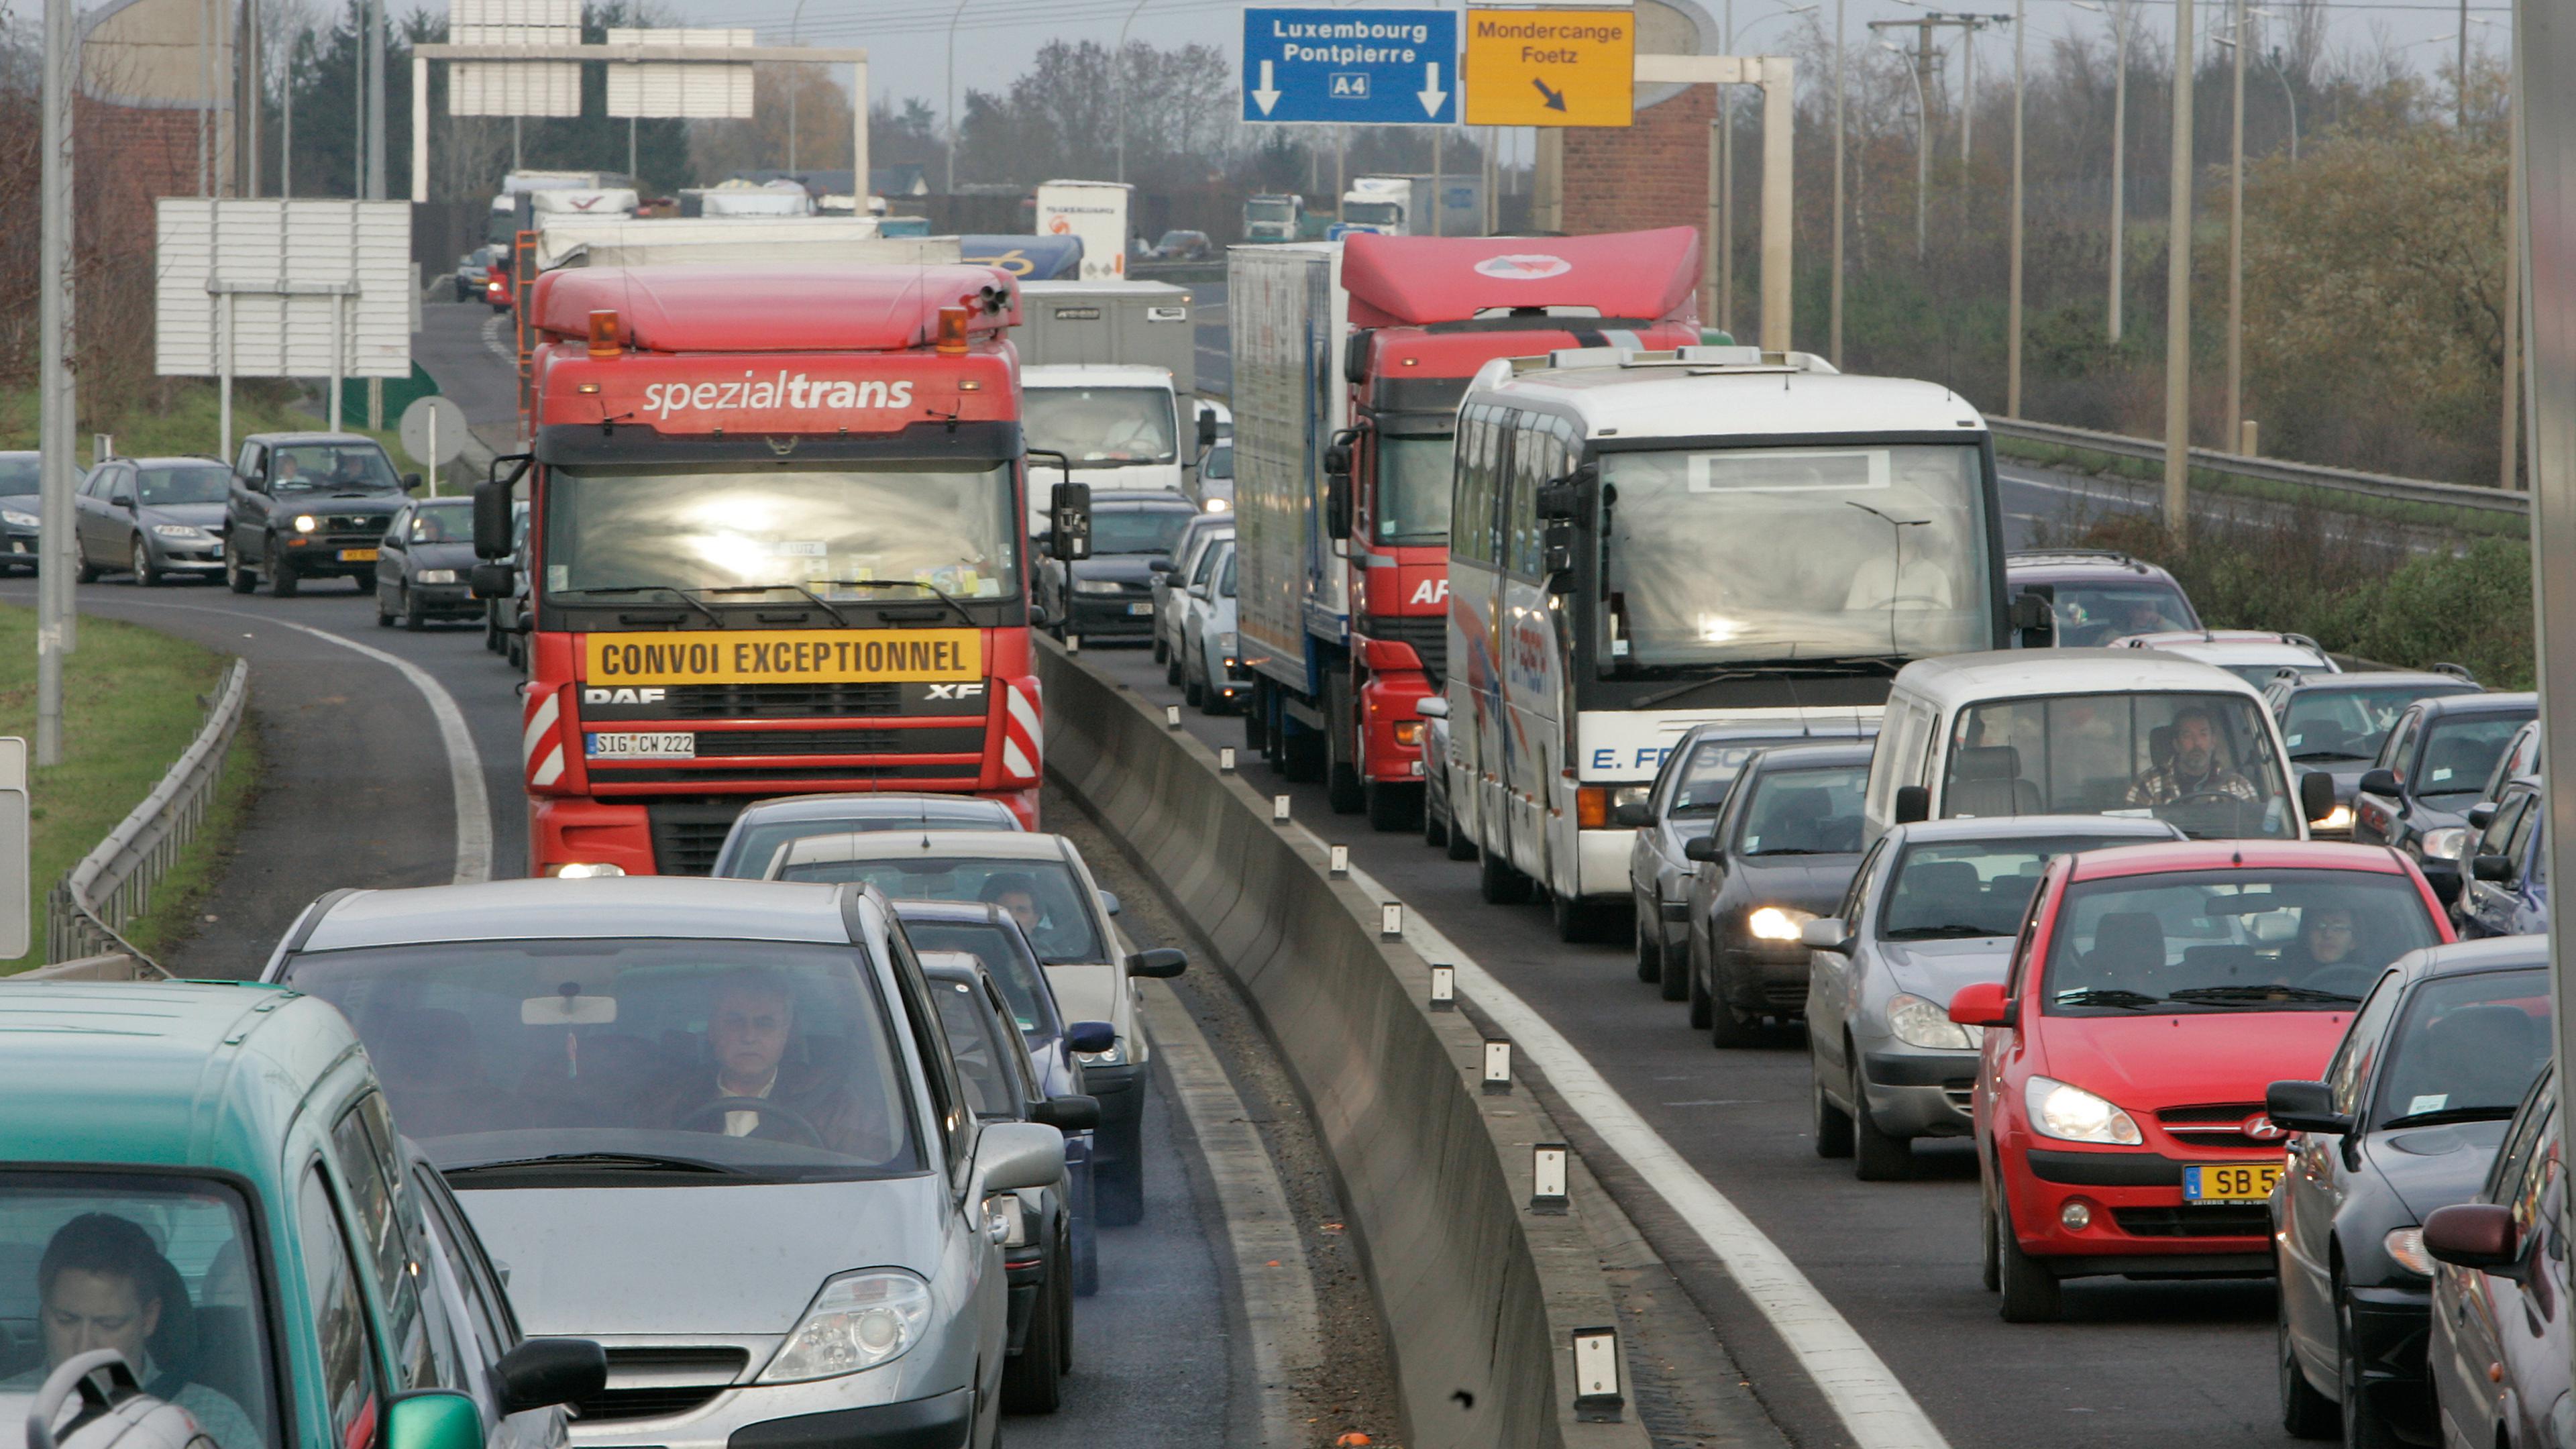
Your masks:
<instances>
[{"instance_id":1,"label":"man driving the silver minivan, seen through its windscreen","mask_svg":"<svg viewBox=\"0 0 2576 1449\"><path fill-rule=\"evenodd\" d=\"M796 990L786 980L760 969L724 977L706 1011L716 1070L667 1083L659 1122L768 1142L819 1140L827 1152L871 1163L894 1155L891 1104L866 1101L840 1073L788 1062L793 1042ZM775 1101L778 1111L760 1111L755 1101Z\"/></svg>"}]
</instances>

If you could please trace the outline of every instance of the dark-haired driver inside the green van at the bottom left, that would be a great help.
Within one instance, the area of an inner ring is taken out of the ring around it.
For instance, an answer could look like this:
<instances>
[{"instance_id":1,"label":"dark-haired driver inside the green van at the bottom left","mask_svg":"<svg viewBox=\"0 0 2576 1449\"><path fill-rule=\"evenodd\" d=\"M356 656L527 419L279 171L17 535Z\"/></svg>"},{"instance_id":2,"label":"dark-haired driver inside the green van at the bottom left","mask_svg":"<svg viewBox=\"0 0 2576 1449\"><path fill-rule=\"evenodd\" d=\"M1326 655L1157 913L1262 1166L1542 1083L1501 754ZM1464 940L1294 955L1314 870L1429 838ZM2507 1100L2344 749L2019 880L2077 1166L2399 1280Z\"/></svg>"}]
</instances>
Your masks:
<instances>
[{"instance_id":1,"label":"dark-haired driver inside the green van at the bottom left","mask_svg":"<svg viewBox=\"0 0 2576 1449\"><path fill-rule=\"evenodd\" d=\"M232 1395L191 1382L185 1364L162 1364L152 1356L162 1320L191 1312L196 1307L188 1302L188 1284L142 1225L113 1212L85 1212L54 1230L44 1258L36 1261L44 1366L0 1382L0 1392L36 1392L64 1361L93 1348L116 1348L144 1392L185 1408L216 1449L260 1449L260 1431Z\"/></svg>"}]
</instances>

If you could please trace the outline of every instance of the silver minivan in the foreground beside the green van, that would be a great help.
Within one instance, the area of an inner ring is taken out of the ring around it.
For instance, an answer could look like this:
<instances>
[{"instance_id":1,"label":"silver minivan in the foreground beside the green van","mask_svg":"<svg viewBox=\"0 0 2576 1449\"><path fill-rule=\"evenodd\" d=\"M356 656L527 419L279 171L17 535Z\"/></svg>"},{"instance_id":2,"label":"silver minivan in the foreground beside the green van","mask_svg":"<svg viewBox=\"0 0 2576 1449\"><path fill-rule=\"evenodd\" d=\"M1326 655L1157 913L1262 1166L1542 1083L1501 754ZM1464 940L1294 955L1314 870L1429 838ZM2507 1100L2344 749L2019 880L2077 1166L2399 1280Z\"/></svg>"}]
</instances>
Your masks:
<instances>
[{"instance_id":1,"label":"silver minivan in the foreground beside the green van","mask_svg":"<svg viewBox=\"0 0 2576 1449\"><path fill-rule=\"evenodd\" d=\"M263 980L335 1003L507 1263L608 1348L574 1446L987 1446L997 1196L1064 1137L976 1122L863 887L688 877L332 892Z\"/></svg>"}]
</instances>

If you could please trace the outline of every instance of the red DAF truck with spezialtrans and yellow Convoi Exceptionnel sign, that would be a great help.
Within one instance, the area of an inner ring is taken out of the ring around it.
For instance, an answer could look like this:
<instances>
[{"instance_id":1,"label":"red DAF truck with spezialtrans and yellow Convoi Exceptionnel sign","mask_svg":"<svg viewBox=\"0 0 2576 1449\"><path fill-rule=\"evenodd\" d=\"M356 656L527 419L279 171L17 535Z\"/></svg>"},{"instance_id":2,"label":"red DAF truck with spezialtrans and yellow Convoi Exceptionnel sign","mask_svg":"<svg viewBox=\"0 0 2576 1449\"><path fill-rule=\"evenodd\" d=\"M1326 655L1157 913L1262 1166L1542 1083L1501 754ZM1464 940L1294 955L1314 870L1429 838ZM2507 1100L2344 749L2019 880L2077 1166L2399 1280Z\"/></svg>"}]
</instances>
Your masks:
<instances>
[{"instance_id":1,"label":"red DAF truck with spezialtrans and yellow Convoi Exceptionnel sign","mask_svg":"<svg viewBox=\"0 0 2576 1449\"><path fill-rule=\"evenodd\" d=\"M572 268L526 297L531 874L703 874L801 792L1036 825L1018 289L976 266ZM477 570L477 593L515 583Z\"/></svg>"}]
</instances>

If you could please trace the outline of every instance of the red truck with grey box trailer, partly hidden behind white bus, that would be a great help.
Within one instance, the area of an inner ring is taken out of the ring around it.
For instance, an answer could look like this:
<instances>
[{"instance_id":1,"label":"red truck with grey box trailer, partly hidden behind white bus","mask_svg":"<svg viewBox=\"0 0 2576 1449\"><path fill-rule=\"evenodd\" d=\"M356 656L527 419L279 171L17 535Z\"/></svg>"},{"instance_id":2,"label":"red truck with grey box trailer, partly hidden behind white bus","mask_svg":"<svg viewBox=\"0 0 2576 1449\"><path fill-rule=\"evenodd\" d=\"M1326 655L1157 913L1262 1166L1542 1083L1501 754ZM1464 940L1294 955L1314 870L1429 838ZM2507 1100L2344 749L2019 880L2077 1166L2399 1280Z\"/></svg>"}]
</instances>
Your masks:
<instances>
[{"instance_id":1,"label":"red truck with grey box trailer, partly hidden behind white bus","mask_svg":"<svg viewBox=\"0 0 2576 1449\"><path fill-rule=\"evenodd\" d=\"M1690 227L1229 253L1247 745L1378 830L1419 822L1458 400L1494 358L1695 345L1698 284Z\"/></svg>"}]
</instances>

